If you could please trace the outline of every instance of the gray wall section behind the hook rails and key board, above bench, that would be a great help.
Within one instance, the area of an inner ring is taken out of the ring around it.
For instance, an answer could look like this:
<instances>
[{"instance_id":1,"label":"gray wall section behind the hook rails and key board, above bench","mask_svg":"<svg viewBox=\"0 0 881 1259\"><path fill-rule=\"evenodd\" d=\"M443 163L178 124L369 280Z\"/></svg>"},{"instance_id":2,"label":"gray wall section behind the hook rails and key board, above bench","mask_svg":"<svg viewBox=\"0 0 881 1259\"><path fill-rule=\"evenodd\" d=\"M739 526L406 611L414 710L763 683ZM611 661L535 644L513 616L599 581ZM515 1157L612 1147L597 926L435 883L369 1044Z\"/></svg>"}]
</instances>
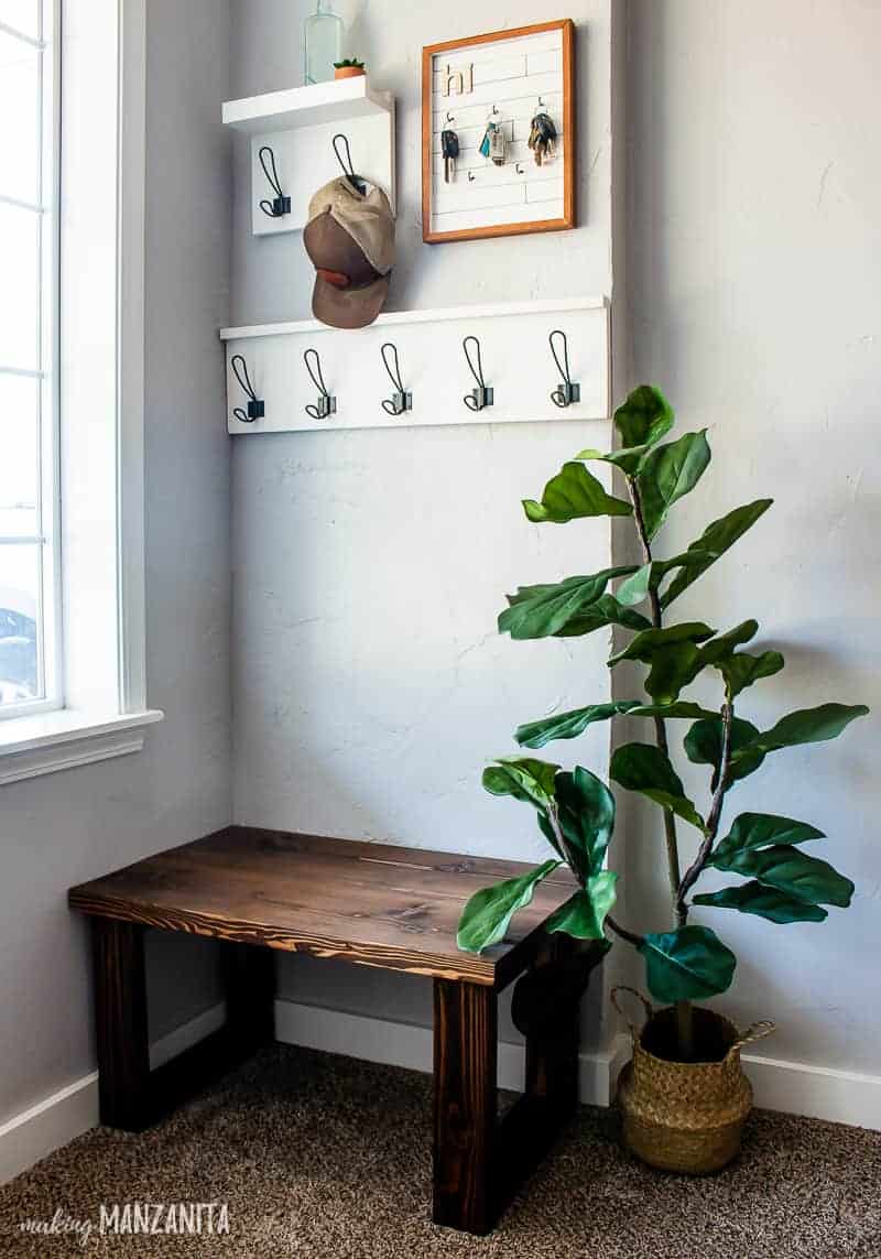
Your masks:
<instances>
[{"instance_id":1,"label":"gray wall section behind the hook rails and key board, above bench","mask_svg":"<svg viewBox=\"0 0 881 1259\"><path fill-rule=\"evenodd\" d=\"M233 0L235 96L300 82L301 23L313 5ZM356 6L351 6L355 11ZM451 0L441 9L369 0L349 44L398 108L398 263L389 308L612 292L608 0L578 0L575 232L424 246L422 45L540 14ZM356 159L355 159L356 160ZM250 234L247 142L237 144L237 325L310 313L301 234ZM545 370L546 349L536 370ZM451 370L456 370L453 366ZM371 403L375 405L375 403ZM492 799L483 764L512 730L585 689L608 695L603 636L578 648L512 643L496 616L517 584L608 563L604 524L535 529L520 500L608 426L283 433L233 446L234 813L253 825L391 838L511 857L545 855L530 811ZM585 568L586 565L586 568ZM608 759L608 730L586 755ZM428 1021L430 985L283 958L293 998ZM593 1022L597 1034L597 1022Z\"/></svg>"}]
</instances>

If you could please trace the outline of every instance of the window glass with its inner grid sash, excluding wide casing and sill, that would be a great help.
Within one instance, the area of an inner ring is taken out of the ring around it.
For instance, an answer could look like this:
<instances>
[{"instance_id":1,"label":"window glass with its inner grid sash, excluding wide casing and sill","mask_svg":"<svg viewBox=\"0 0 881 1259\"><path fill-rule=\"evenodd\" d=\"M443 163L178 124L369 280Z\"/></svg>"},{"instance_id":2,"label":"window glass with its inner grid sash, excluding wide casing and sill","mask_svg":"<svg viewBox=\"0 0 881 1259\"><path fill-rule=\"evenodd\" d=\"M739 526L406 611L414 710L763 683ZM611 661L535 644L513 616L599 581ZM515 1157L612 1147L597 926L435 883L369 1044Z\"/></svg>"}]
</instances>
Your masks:
<instances>
[{"instance_id":1,"label":"window glass with its inner grid sash, excluding wide casing and sill","mask_svg":"<svg viewBox=\"0 0 881 1259\"><path fill-rule=\"evenodd\" d=\"M53 0L0 0L0 719L59 708Z\"/></svg>"}]
</instances>

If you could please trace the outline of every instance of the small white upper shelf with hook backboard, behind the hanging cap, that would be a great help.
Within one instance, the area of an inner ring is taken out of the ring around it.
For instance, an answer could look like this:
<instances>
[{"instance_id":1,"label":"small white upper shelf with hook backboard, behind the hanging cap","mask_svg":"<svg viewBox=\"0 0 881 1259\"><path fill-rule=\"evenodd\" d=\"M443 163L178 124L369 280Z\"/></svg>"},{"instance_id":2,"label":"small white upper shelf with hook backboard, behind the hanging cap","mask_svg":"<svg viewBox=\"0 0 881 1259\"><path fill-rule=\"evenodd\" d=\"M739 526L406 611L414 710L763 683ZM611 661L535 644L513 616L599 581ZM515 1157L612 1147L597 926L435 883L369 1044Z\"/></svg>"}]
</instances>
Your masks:
<instances>
[{"instance_id":1,"label":"small white upper shelf with hook backboard, behind the hanging cap","mask_svg":"<svg viewBox=\"0 0 881 1259\"><path fill-rule=\"evenodd\" d=\"M374 91L366 74L284 92L227 101L223 121L250 136L250 223L254 235L279 235L306 227L313 193L341 174L332 149L334 135L344 132L359 175L381 188L395 208L395 99L391 92ZM272 201L259 161L263 145L276 159L282 193L291 198L291 213L272 218L261 209Z\"/></svg>"}]
</instances>

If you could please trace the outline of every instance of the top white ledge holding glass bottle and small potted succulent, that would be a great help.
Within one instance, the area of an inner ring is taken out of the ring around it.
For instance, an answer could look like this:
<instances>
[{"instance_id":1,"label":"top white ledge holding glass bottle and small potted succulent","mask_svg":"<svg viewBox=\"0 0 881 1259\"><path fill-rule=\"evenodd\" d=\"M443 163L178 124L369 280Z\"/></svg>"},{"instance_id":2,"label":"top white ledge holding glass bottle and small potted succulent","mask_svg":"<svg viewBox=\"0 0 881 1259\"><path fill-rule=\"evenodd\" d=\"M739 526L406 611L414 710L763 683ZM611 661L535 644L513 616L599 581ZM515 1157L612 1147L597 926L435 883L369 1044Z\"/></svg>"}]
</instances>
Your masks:
<instances>
[{"instance_id":1,"label":"top white ledge holding glass bottle and small potted succulent","mask_svg":"<svg viewBox=\"0 0 881 1259\"><path fill-rule=\"evenodd\" d=\"M274 131L317 127L384 113L394 113L394 97L390 92L373 91L366 74L360 74L356 78L227 101L223 121L228 127L249 136L267 136Z\"/></svg>"}]
</instances>

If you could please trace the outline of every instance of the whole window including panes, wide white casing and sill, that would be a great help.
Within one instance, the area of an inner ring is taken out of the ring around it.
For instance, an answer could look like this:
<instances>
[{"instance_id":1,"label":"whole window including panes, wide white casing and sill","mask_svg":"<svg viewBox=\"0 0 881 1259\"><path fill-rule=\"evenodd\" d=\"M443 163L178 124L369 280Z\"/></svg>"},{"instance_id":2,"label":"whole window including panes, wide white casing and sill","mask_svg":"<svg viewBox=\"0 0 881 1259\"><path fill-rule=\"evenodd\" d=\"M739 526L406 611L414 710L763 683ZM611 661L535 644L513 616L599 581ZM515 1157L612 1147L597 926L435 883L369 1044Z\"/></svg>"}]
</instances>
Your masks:
<instances>
[{"instance_id":1,"label":"whole window including panes, wide white casing and sill","mask_svg":"<svg viewBox=\"0 0 881 1259\"><path fill-rule=\"evenodd\" d=\"M0 0L0 788L137 752L162 716L145 694L145 8L63 0L60 21L62 0Z\"/></svg>"}]
</instances>

